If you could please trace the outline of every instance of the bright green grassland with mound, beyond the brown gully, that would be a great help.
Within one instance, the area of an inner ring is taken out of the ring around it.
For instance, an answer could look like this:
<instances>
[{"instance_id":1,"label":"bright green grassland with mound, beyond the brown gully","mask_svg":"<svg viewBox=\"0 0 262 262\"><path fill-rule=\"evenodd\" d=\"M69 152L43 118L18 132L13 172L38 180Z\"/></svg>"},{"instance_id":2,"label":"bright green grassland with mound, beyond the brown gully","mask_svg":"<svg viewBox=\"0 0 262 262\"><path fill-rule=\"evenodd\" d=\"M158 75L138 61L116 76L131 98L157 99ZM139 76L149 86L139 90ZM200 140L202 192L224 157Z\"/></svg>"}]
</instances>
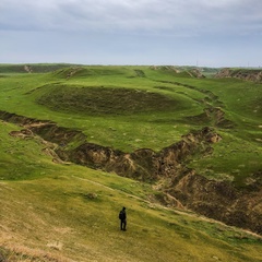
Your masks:
<instances>
[{"instance_id":1,"label":"bright green grassland with mound, beyond the brown gully","mask_svg":"<svg viewBox=\"0 0 262 262\"><path fill-rule=\"evenodd\" d=\"M258 159L262 107L258 83L192 79L169 67L74 67L48 74L2 78L0 100L1 110L73 127L85 133L88 142L124 152L143 147L159 151L190 130L214 124L198 116L206 107L219 107L234 128L216 127L223 140L215 154L212 159L198 159L192 167L207 177L227 174L225 177L239 181L261 169ZM246 157L250 162L240 175L234 172ZM215 163L207 171L206 162Z\"/></svg>"}]
</instances>

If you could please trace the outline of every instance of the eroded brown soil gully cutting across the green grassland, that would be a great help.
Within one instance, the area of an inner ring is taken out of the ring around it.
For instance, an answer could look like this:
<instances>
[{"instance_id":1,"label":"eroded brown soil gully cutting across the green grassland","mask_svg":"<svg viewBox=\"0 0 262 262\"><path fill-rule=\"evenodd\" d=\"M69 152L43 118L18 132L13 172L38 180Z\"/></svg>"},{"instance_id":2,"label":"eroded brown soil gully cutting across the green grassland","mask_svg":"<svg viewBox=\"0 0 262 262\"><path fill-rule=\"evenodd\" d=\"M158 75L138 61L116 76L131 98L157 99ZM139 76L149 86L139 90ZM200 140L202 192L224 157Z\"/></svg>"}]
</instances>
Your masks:
<instances>
[{"instance_id":1,"label":"eroded brown soil gully cutting across the green grassland","mask_svg":"<svg viewBox=\"0 0 262 262\"><path fill-rule=\"evenodd\" d=\"M215 181L195 174L187 167L190 157L212 154L212 144L222 140L211 128L191 132L181 141L154 152L141 148L124 153L111 147L88 143L80 131L58 127L55 122L39 121L14 114L0 111L0 119L21 124L21 138L40 135L57 144L48 154L63 162L114 171L119 176L152 181L164 193L168 205L186 207L228 225L251 229L262 234L262 184L261 175L255 174L246 190L236 189L230 182ZM11 132L11 135L17 135ZM66 150L72 140L83 141L73 150Z\"/></svg>"}]
</instances>

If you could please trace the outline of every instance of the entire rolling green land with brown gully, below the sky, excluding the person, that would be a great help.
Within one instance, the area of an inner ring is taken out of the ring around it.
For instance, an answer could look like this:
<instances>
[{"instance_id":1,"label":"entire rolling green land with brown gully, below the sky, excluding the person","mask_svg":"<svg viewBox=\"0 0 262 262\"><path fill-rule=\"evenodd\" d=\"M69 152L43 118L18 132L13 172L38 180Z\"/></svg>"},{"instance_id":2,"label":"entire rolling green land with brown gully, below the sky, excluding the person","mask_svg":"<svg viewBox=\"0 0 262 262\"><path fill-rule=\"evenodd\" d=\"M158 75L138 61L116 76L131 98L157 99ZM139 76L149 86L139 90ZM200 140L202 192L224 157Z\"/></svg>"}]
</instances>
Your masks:
<instances>
[{"instance_id":1,"label":"entire rolling green land with brown gully, below the sky, excluding the person","mask_svg":"<svg viewBox=\"0 0 262 262\"><path fill-rule=\"evenodd\" d=\"M261 261L260 83L31 69L0 67L0 260Z\"/></svg>"}]
</instances>

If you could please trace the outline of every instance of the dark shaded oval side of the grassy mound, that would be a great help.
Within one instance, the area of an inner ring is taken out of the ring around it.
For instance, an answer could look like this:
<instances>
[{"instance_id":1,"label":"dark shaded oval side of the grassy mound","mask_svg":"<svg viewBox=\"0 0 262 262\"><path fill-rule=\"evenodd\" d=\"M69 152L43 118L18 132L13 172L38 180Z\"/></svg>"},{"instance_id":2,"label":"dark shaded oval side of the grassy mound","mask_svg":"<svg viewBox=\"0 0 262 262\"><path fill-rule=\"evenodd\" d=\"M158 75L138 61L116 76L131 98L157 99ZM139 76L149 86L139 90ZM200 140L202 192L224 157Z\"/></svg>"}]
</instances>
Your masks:
<instances>
[{"instance_id":1,"label":"dark shaded oval side of the grassy mound","mask_svg":"<svg viewBox=\"0 0 262 262\"><path fill-rule=\"evenodd\" d=\"M176 110L180 106L171 97L121 87L72 87L59 85L37 99L52 110L84 115L132 115Z\"/></svg>"}]
</instances>

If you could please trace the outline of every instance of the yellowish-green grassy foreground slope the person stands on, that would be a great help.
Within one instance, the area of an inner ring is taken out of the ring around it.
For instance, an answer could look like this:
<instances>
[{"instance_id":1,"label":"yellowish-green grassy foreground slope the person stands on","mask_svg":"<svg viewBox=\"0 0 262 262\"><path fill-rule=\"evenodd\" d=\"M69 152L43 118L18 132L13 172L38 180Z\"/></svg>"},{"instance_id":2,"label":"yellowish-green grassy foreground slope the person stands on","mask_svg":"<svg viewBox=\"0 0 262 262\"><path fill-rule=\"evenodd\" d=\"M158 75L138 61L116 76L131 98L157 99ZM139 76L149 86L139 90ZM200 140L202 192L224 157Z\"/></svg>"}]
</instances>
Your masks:
<instances>
[{"instance_id":1,"label":"yellowish-green grassy foreground slope the person stands on","mask_svg":"<svg viewBox=\"0 0 262 262\"><path fill-rule=\"evenodd\" d=\"M0 127L2 261L260 260L261 238L163 207L147 183L56 164L46 150L50 143L33 133L14 136L14 124ZM12 174L23 176L10 177L20 158ZM118 222L123 205L124 233Z\"/></svg>"}]
</instances>

